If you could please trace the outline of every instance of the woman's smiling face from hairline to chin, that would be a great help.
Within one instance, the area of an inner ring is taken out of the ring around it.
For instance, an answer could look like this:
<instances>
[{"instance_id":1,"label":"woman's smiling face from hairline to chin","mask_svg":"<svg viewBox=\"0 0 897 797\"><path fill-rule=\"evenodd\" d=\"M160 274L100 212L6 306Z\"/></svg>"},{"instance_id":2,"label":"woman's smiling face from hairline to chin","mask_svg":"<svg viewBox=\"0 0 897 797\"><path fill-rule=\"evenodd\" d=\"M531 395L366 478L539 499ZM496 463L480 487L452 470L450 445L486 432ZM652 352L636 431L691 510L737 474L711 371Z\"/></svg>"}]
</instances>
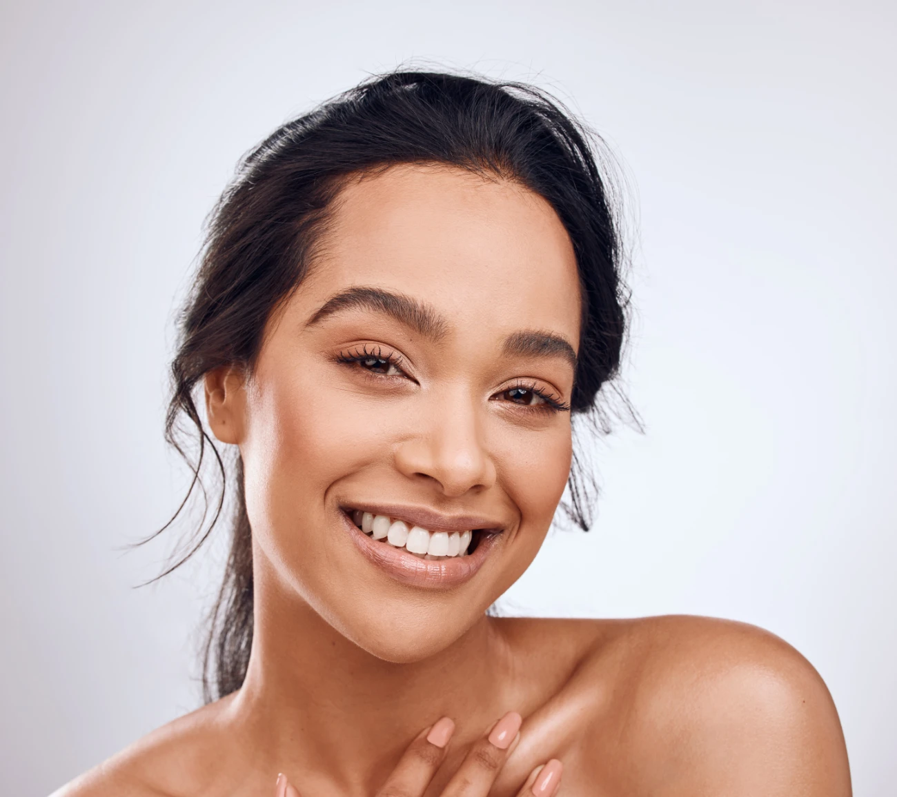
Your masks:
<instances>
[{"instance_id":1,"label":"woman's smiling face from hairline to chin","mask_svg":"<svg viewBox=\"0 0 897 797\"><path fill-rule=\"evenodd\" d=\"M520 186L411 166L346 186L226 402L272 586L388 661L464 634L561 498L579 301L562 222Z\"/></svg>"}]
</instances>

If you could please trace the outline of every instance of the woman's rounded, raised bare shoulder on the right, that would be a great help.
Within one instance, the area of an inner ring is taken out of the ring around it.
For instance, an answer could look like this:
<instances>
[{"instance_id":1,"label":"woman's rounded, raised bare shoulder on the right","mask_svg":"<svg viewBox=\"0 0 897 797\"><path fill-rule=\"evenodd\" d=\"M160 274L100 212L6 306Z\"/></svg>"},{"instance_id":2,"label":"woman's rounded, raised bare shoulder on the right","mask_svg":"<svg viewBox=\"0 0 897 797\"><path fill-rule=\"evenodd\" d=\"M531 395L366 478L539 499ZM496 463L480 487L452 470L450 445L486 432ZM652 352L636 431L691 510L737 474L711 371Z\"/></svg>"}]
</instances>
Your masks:
<instances>
[{"instance_id":1,"label":"woman's rounded, raised bare shoulder on the right","mask_svg":"<svg viewBox=\"0 0 897 797\"><path fill-rule=\"evenodd\" d=\"M613 745L638 792L850 794L832 697L779 637L679 616L598 621L595 638L580 669L614 697L587 734L593 760Z\"/></svg>"}]
</instances>

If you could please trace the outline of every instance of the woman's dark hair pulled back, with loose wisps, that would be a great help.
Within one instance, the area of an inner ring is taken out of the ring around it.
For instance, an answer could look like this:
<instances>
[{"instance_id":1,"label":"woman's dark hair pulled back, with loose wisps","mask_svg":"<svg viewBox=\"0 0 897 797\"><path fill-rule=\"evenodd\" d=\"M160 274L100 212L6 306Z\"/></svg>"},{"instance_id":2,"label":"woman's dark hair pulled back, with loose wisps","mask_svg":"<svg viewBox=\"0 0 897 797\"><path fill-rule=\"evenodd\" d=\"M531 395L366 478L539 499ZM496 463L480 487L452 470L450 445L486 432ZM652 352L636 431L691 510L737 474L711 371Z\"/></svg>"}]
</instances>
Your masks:
<instances>
[{"instance_id":1,"label":"woman's dark hair pulled back, with loose wisps","mask_svg":"<svg viewBox=\"0 0 897 797\"><path fill-rule=\"evenodd\" d=\"M221 479L211 522L199 525L178 567L208 538L234 502L231 547L205 645L205 699L239 689L253 633L251 529L239 453L229 469L205 431L194 399L205 373L222 365L251 369L266 322L302 282L327 211L351 175L399 163L444 164L485 178L513 180L557 212L579 265L582 324L571 397L578 417L606 416L597 395L620 364L628 294L618 217L597 168L600 141L562 105L528 85L431 72L395 72L361 83L279 127L242 160L209 222L202 260L180 319L171 365L173 392L166 438L190 463L193 479L178 517L196 489L208 450ZM198 432L187 454L180 421ZM588 468L574 456L564 507L588 530L594 493ZM231 482L227 479L231 471ZM168 527L167 524L166 527ZM161 531L161 530L160 530ZM162 574L164 575L164 574Z\"/></svg>"}]
</instances>

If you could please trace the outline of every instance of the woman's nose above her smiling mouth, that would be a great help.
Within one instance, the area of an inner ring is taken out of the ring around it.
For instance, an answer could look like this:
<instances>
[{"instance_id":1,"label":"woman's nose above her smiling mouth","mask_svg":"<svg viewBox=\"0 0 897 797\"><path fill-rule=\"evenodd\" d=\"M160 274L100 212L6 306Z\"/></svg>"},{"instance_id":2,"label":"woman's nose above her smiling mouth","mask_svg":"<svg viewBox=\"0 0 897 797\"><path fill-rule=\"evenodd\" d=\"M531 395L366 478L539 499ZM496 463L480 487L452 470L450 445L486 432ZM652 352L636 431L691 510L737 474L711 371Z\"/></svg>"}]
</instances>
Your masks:
<instances>
[{"instance_id":1,"label":"woman's nose above her smiling mouth","mask_svg":"<svg viewBox=\"0 0 897 797\"><path fill-rule=\"evenodd\" d=\"M399 472L411 479L435 481L447 498L492 487L495 463L483 435L475 403L460 395L431 404L424 419L395 449Z\"/></svg>"}]
</instances>

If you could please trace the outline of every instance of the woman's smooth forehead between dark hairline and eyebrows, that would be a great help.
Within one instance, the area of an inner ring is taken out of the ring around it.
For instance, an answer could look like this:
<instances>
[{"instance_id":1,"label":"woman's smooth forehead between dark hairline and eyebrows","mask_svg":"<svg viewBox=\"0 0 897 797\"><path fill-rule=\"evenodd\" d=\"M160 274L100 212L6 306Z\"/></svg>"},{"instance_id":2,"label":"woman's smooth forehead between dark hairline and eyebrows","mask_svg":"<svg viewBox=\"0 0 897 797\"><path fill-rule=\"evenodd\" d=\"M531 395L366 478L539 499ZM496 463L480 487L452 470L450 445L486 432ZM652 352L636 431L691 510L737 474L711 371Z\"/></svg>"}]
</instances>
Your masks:
<instances>
[{"instance_id":1,"label":"woman's smooth forehead between dark hairline and eyebrows","mask_svg":"<svg viewBox=\"0 0 897 797\"><path fill-rule=\"evenodd\" d=\"M459 329L529 327L579 341L570 237L550 204L515 183L439 166L353 179L322 245L299 292L311 305L373 285L431 304Z\"/></svg>"}]
</instances>

